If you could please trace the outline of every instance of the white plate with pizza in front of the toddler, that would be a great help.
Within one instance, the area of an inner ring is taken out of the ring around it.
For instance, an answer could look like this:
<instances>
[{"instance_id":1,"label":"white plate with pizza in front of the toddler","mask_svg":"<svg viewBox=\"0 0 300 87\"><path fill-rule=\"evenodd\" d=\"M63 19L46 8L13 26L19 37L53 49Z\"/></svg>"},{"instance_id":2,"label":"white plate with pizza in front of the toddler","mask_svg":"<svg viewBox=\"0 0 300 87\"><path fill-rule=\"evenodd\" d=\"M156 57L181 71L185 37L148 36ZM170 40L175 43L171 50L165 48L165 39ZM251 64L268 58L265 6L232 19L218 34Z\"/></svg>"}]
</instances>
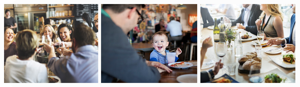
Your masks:
<instances>
[{"instance_id":1,"label":"white plate with pizza in front of the toddler","mask_svg":"<svg viewBox=\"0 0 300 87\"><path fill-rule=\"evenodd\" d=\"M177 68L177 69L185 69L185 68L193 66L193 64L188 63L188 62L173 62L173 63L168 64L168 66Z\"/></svg>"}]
</instances>

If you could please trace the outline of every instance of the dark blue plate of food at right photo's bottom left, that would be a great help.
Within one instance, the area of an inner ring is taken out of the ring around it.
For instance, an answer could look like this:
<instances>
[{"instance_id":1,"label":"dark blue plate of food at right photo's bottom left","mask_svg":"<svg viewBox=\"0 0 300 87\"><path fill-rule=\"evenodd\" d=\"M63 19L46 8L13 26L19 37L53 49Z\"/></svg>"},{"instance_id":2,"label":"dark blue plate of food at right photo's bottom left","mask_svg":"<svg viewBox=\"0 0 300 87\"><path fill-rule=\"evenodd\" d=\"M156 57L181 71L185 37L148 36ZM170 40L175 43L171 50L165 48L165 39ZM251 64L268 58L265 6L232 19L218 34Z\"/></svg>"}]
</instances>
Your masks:
<instances>
[{"instance_id":1,"label":"dark blue plate of food at right photo's bottom left","mask_svg":"<svg viewBox=\"0 0 300 87\"><path fill-rule=\"evenodd\" d=\"M239 83L239 82L231 78L229 75L224 74L223 76L206 83Z\"/></svg>"}]
</instances>

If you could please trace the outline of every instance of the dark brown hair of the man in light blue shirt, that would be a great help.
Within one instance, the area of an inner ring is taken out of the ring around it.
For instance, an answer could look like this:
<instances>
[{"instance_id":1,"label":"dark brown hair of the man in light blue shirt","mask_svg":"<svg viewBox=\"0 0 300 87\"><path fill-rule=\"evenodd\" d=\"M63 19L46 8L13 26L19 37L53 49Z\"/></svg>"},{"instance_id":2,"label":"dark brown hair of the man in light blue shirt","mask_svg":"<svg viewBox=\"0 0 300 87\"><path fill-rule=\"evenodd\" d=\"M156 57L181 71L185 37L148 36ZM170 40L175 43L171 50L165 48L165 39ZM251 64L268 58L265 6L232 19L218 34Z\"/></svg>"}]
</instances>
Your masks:
<instances>
[{"instance_id":1,"label":"dark brown hair of the man in light blue shirt","mask_svg":"<svg viewBox=\"0 0 300 87\"><path fill-rule=\"evenodd\" d=\"M85 45L95 45L96 35L89 26L81 23L74 29L73 33L74 34L72 37L76 40L75 42L78 47Z\"/></svg>"}]
</instances>

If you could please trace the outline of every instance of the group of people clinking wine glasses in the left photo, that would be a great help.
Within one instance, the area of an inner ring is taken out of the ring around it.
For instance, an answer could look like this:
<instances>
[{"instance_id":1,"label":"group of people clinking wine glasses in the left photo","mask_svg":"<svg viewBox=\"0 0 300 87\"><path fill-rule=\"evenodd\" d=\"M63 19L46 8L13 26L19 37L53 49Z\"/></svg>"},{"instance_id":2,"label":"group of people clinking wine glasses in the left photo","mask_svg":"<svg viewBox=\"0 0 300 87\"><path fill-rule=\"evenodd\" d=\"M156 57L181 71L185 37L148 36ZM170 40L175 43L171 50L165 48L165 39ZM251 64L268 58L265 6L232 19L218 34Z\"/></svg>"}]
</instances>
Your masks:
<instances>
[{"instance_id":1,"label":"group of people clinking wine glasses in the left photo","mask_svg":"<svg viewBox=\"0 0 300 87\"><path fill-rule=\"evenodd\" d=\"M98 29L98 13L94 19ZM98 83L98 52L94 48L97 33L85 24L73 29L70 24L63 23L58 26L57 31L50 24L45 22L40 34L25 29L19 31L16 37L13 29L4 27L4 82L49 82L46 66L33 60L36 53L44 48L49 53L47 66L61 82ZM48 35L52 40L59 37L72 50L62 47L55 49L53 45L56 43L53 42L45 43L43 48L39 48L38 35ZM55 52L62 53L64 57L58 58Z\"/></svg>"}]
</instances>

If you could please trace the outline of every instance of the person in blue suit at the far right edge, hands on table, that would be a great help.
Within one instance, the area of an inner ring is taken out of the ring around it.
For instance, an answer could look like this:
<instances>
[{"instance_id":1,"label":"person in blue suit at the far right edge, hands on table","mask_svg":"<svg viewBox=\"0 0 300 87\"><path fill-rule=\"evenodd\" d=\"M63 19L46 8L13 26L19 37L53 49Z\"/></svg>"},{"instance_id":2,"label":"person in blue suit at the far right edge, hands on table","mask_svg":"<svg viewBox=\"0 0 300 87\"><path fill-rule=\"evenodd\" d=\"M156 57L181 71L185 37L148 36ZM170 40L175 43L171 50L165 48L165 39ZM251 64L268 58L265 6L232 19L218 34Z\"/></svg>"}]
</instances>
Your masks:
<instances>
[{"instance_id":1,"label":"person in blue suit at the far right edge, hands on table","mask_svg":"<svg viewBox=\"0 0 300 87\"><path fill-rule=\"evenodd\" d=\"M296 49L296 38L295 38L295 23L296 23L296 12L295 12L295 4L292 4L292 10L293 10L293 15L291 17L291 31L290 31L290 34L289 34L289 37L286 37L286 38L272 38L272 39L269 39L268 40L268 45L279 45L281 44L281 46L283 47L283 51L292 51L292 52L295 52L295 49Z\"/></svg>"}]
</instances>

